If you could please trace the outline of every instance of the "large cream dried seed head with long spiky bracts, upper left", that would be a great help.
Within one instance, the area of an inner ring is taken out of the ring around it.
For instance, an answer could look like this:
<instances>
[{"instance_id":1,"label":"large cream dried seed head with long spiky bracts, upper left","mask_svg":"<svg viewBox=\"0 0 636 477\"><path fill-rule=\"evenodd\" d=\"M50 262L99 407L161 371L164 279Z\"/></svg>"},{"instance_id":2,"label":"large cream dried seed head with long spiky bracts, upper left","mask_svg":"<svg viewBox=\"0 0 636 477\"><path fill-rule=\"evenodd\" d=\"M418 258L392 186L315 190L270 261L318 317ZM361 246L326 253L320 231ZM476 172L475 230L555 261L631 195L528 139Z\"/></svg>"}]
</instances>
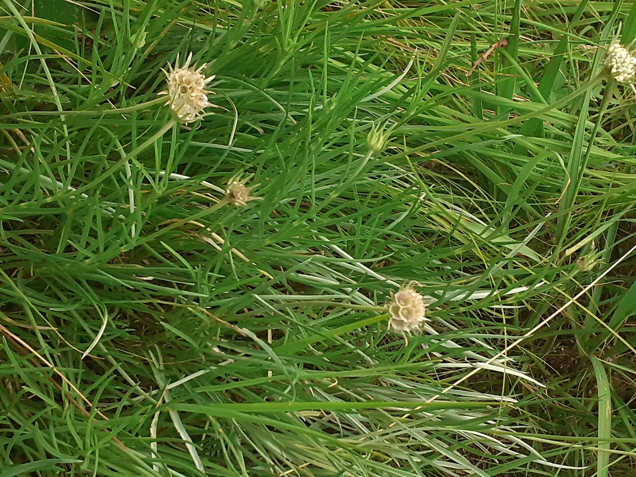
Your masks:
<instances>
[{"instance_id":1,"label":"large cream dried seed head with long spiky bracts, upper left","mask_svg":"<svg viewBox=\"0 0 636 477\"><path fill-rule=\"evenodd\" d=\"M205 107L215 106L207 100L207 95L211 93L205 89L205 85L214 79L214 75L205 78L201 73L207 66L202 64L197 69L190 67L192 53L188 55L183 66L179 66L179 55L174 68L169 64L168 71L162 68L167 78L168 89L159 94L168 95L165 106L170 106L170 112L177 121L182 123L191 123L202 118Z\"/></svg>"}]
</instances>

